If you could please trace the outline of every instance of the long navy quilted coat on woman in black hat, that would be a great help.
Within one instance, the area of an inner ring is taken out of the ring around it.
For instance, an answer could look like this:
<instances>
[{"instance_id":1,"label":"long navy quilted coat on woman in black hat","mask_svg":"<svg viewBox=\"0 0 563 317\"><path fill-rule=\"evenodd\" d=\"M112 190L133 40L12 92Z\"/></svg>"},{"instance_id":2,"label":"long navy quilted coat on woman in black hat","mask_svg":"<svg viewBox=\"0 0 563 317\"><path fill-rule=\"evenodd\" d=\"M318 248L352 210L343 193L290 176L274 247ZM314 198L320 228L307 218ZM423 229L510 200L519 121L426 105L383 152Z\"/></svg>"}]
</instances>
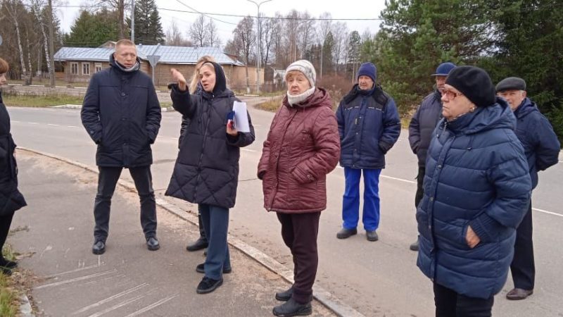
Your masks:
<instances>
[{"instance_id":1,"label":"long navy quilted coat on woman in black hat","mask_svg":"<svg viewBox=\"0 0 563 317\"><path fill-rule=\"evenodd\" d=\"M531 194L516 118L502 99L434 131L417 209L417 266L439 285L468 297L500 292L514 255L516 228ZM481 242L470 249L467 227Z\"/></svg>"}]
</instances>

